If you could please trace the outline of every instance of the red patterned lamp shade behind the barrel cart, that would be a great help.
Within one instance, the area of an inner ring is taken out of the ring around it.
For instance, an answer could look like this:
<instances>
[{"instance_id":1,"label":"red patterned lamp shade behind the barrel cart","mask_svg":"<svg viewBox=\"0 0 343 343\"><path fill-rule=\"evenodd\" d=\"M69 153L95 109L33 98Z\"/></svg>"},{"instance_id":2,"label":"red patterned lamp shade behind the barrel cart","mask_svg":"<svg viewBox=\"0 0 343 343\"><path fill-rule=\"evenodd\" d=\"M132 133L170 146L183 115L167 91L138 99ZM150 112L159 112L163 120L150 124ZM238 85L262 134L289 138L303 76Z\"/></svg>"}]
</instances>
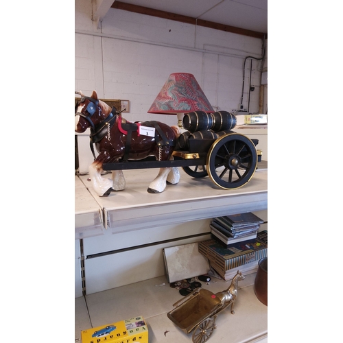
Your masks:
<instances>
[{"instance_id":1,"label":"red patterned lamp shade behind the barrel cart","mask_svg":"<svg viewBox=\"0 0 343 343\"><path fill-rule=\"evenodd\" d=\"M147 113L173 115L195 110L215 112L194 75L172 73Z\"/></svg>"}]
</instances>

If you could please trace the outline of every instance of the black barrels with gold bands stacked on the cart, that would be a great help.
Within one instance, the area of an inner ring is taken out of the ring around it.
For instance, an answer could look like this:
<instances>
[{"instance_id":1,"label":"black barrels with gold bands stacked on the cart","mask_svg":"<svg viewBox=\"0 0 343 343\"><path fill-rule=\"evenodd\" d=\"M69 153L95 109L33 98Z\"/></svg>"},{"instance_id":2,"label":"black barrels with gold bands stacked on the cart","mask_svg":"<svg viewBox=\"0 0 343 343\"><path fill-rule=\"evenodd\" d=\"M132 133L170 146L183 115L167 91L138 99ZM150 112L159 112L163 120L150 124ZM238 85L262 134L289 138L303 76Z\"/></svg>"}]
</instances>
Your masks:
<instances>
[{"instance_id":1,"label":"black barrels with gold bands stacked on the cart","mask_svg":"<svg viewBox=\"0 0 343 343\"><path fill-rule=\"evenodd\" d=\"M215 113L193 111L183 117L183 127L178 143L182 150L188 150L189 139L217 139L235 128L237 119L232 113L220 110Z\"/></svg>"}]
</instances>

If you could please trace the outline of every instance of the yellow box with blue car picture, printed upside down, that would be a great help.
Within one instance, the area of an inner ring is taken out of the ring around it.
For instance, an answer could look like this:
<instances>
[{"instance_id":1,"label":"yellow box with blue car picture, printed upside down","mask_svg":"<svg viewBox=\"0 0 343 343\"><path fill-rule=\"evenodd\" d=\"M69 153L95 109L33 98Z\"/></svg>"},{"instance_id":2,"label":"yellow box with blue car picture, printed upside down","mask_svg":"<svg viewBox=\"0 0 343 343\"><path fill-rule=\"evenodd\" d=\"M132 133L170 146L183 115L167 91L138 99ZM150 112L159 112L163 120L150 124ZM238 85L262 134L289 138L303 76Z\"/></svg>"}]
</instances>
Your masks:
<instances>
[{"instance_id":1,"label":"yellow box with blue car picture, printed upside down","mask_svg":"<svg viewBox=\"0 0 343 343\"><path fill-rule=\"evenodd\" d=\"M82 343L148 343L142 316L81 331Z\"/></svg>"}]
</instances>

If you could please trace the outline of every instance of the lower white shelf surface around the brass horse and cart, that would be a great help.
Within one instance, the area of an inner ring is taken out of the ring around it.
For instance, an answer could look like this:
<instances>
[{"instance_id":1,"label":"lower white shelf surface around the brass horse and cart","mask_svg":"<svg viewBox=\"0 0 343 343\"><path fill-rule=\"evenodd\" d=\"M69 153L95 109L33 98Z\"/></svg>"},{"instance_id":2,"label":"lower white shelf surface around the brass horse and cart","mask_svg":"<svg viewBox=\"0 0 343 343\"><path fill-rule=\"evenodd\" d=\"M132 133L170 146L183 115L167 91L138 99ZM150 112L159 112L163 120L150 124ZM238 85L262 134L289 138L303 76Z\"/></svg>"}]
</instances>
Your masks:
<instances>
[{"instance_id":1,"label":"lower white shelf surface around the brass horse and cart","mask_svg":"<svg viewBox=\"0 0 343 343\"><path fill-rule=\"evenodd\" d=\"M235 314L230 313L230 307L218 314L215 320L217 329L211 335L210 342L267 342L268 307L255 296L255 276L256 274L249 274L244 281L239 282ZM219 279L212 279L209 284L202 282L202 287L213 293L229 286L230 281ZM83 298L75 299L75 305L79 299ZM149 343L189 343L193 332L187 335L167 318L167 312L171 311L173 304L180 299L185 298L180 296L178 289L169 286L166 276L160 276L91 294L86 296L86 303L93 327L132 316L143 316L149 329ZM75 340L80 336L81 330L91 327L90 322L87 326L86 316L80 311L82 305L84 303L78 303L78 311L75 313ZM85 305L83 309L86 310ZM78 316L83 316L84 320Z\"/></svg>"}]
</instances>

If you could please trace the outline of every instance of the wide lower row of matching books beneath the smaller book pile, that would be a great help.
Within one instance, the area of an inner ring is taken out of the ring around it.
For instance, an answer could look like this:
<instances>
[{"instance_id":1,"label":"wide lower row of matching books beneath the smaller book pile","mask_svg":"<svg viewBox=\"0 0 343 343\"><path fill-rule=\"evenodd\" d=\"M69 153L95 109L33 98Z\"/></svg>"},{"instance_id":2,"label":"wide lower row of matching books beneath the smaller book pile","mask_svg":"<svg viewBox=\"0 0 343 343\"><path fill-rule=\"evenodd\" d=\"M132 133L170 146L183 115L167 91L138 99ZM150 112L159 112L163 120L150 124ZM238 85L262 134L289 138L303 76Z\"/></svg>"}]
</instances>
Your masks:
<instances>
[{"instance_id":1,"label":"wide lower row of matching books beneath the smaller book pile","mask_svg":"<svg viewBox=\"0 0 343 343\"><path fill-rule=\"evenodd\" d=\"M237 270L250 274L257 270L259 260L268 255L268 245L255 239L240 241L225 248L215 239L200 241L199 252L209 259L211 267L222 279L230 280Z\"/></svg>"}]
</instances>

